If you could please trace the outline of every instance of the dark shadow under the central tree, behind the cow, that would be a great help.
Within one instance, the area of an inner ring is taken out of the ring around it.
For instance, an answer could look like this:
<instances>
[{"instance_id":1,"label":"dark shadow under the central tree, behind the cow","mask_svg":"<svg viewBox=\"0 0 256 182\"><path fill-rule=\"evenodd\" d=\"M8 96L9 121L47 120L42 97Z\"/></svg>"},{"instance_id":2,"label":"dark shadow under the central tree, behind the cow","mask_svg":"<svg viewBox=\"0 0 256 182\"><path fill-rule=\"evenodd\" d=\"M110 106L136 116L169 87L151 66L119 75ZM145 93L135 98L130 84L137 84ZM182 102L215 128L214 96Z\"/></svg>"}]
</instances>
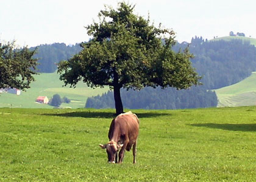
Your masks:
<instances>
[{"instance_id":1,"label":"dark shadow under the central tree, behind the cow","mask_svg":"<svg viewBox=\"0 0 256 182\"><path fill-rule=\"evenodd\" d=\"M158 116L171 115L168 113L136 113L138 118L155 118ZM82 118L115 118L116 115L113 112L66 112L66 113L43 113L46 116L60 116L60 117L82 117Z\"/></svg>"}]
</instances>

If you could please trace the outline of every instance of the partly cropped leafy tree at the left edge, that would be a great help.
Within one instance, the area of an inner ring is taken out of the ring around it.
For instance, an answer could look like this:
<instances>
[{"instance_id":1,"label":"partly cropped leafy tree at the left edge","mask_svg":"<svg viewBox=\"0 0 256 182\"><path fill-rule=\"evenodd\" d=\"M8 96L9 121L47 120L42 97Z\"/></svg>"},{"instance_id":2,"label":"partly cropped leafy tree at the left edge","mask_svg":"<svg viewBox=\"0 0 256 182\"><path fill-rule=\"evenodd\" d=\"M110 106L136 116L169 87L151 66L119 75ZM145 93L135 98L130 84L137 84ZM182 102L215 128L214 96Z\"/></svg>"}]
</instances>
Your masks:
<instances>
[{"instance_id":1,"label":"partly cropped leafy tree at the left edge","mask_svg":"<svg viewBox=\"0 0 256 182\"><path fill-rule=\"evenodd\" d=\"M34 81L37 59L32 58L36 50L27 47L15 49L15 43L0 43L0 88L27 89Z\"/></svg>"}]
</instances>

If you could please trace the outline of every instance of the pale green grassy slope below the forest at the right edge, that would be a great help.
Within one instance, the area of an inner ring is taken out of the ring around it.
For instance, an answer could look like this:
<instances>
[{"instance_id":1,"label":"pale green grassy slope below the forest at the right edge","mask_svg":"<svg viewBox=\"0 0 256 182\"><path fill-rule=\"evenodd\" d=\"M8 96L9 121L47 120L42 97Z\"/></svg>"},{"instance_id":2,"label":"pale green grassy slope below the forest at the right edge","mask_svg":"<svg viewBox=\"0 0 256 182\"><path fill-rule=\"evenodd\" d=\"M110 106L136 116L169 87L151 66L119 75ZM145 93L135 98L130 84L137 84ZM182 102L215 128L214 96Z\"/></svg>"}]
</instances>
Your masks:
<instances>
[{"instance_id":1,"label":"pale green grassy slope below the forest at the right edge","mask_svg":"<svg viewBox=\"0 0 256 182\"><path fill-rule=\"evenodd\" d=\"M240 83L215 90L218 107L256 105L256 72Z\"/></svg>"}]
</instances>

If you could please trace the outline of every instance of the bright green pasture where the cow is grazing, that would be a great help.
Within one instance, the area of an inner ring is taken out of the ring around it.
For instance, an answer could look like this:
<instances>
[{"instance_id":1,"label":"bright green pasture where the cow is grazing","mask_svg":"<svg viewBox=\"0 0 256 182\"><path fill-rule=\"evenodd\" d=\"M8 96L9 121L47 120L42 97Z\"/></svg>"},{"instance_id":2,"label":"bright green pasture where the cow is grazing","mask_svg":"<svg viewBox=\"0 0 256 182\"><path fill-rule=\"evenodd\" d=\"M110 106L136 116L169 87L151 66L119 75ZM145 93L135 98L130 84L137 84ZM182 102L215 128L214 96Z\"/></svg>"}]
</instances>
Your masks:
<instances>
[{"instance_id":1,"label":"bright green pasture where the cow is grazing","mask_svg":"<svg viewBox=\"0 0 256 182\"><path fill-rule=\"evenodd\" d=\"M137 164L108 164L115 110L0 109L0 181L255 181L256 107L132 110Z\"/></svg>"}]
</instances>

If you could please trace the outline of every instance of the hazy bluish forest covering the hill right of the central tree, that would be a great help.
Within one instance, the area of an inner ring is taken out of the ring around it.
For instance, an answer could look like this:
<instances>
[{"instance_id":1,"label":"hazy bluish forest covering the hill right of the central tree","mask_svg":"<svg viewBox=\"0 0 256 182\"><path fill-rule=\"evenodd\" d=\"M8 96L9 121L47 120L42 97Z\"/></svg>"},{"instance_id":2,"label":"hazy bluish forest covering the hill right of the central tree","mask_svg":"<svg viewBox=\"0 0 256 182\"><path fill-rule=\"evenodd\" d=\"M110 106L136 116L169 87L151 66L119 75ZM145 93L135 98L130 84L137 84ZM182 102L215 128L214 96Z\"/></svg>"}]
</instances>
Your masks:
<instances>
[{"instance_id":1,"label":"hazy bluish forest covering the hill right of the central tree","mask_svg":"<svg viewBox=\"0 0 256 182\"><path fill-rule=\"evenodd\" d=\"M185 45L183 45L184 47ZM176 50L180 44L176 45ZM193 66L203 76L206 89L219 89L247 78L255 71L256 48L249 41L207 41L193 38L190 44Z\"/></svg>"}]
</instances>

